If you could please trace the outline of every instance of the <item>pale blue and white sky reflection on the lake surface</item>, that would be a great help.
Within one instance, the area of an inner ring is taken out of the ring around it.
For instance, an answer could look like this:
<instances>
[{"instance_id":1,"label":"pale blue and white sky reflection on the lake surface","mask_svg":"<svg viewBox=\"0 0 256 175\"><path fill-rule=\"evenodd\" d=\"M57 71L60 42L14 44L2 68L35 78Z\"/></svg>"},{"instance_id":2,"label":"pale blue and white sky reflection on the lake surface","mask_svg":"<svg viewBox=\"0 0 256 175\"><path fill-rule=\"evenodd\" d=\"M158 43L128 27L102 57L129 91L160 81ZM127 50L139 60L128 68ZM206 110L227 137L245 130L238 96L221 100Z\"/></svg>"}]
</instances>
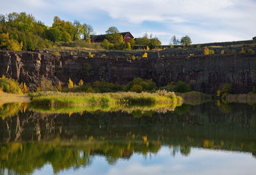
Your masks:
<instances>
[{"instance_id":1,"label":"pale blue and white sky reflection on the lake surface","mask_svg":"<svg viewBox=\"0 0 256 175\"><path fill-rule=\"evenodd\" d=\"M250 153L193 148L189 156L163 146L157 154L147 157L134 154L129 160L109 165L103 156L94 156L92 165L78 170L68 169L58 174L255 174L256 159ZM52 174L47 164L34 174Z\"/></svg>"}]
</instances>

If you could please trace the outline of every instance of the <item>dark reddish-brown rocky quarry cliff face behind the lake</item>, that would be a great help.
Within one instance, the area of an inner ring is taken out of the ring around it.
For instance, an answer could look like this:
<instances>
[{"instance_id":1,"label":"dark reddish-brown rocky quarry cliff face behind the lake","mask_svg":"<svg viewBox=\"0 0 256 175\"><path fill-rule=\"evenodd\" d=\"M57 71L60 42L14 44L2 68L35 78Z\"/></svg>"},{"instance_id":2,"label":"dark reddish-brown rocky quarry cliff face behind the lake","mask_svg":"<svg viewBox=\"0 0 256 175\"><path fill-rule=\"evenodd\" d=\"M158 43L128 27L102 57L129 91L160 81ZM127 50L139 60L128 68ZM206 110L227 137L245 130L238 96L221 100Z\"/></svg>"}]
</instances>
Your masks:
<instances>
[{"instance_id":1,"label":"dark reddish-brown rocky quarry cliff face behind the lake","mask_svg":"<svg viewBox=\"0 0 256 175\"><path fill-rule=\"evenodd\" d=\"M95 80L124 84L141 77L164 86L171 81L188 82L195 91L215 93L220 84L232 83L234 93L248 93L256 86L256 56L248 54L180 56L164 58L54 56L38 52L0 52L0 76L40 86L44 76L66 84Z\"/></svg>"}]
</instances>

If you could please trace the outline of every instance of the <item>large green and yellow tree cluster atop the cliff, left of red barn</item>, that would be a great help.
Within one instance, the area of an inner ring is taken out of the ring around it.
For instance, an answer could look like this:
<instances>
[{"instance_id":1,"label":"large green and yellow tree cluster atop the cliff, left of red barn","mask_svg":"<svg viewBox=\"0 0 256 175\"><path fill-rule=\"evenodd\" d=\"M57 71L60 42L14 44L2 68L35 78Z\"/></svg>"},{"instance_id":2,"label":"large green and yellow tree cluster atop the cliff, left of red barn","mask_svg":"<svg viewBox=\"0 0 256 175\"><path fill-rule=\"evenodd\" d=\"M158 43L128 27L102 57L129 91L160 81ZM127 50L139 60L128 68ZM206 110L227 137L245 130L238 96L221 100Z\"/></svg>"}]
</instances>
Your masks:
<instances>
[{"instance_id":1,"label":"large green and yellow tree cluster atop the cliff, left of red barn","mask_svg":"<svg viewBox=\"0 0 256 175\"><path fill-rule=\"evenodd\" d=\"M47 27L30 14L13 12L1 15L0 47L17 51L35 50L51 47L51 42L72 42L80 38L90 43L92 32L92 26L80 24L77 20L72 23L54 17L52 26Z\"/></svg>"}]
</instances>

